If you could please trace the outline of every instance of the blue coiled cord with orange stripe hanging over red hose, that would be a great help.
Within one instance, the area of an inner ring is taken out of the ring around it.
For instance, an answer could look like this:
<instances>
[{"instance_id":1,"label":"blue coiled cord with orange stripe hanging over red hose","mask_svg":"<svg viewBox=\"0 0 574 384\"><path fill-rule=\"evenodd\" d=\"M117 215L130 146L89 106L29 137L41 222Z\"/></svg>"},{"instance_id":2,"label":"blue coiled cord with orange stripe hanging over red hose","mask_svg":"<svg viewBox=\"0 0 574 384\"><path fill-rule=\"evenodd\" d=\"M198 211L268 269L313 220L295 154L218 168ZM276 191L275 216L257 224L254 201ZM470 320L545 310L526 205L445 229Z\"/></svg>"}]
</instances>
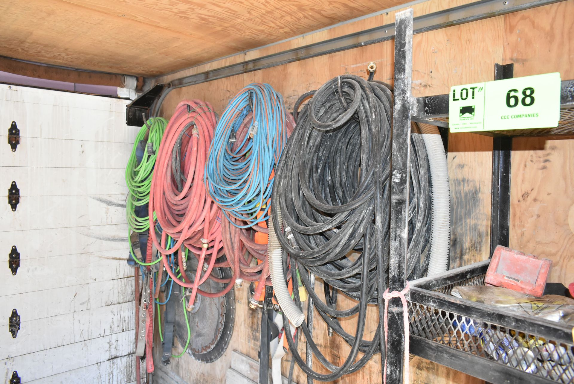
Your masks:
<instances>
[{"instance_id":1,"label":"blue coiled cord with orange stripe hanging over red hose","mask_svg":"<svg viewBox=\"0 0 574 384\"><path fill-rule=\"evenodd\" d=\"M253 112L249 132L235 151L235 133ZM253 132L253 138L249 133ZM231 139L231 142L230 142ZM235 95L215 128L205 165L205 185L226 218L248 228L269 218L272 172L287 142L283 98L269 84L252 83ZM258 216L262 210L261 216Z\"/></svg>"}]
</instances>

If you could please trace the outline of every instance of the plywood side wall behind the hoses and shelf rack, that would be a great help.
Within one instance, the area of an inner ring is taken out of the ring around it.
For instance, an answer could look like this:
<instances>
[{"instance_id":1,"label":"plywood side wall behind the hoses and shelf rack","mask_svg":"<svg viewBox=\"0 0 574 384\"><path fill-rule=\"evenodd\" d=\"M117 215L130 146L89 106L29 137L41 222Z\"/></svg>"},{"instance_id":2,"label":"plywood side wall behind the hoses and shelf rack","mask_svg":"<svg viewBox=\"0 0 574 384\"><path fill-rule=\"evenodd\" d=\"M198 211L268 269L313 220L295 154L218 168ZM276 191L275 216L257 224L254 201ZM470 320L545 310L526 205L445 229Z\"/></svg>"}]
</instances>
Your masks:
<instances>
[{"instance_id":1,"label":"plywood side wall behind the hoses and shelf rack","mask_svg":"<svg viewBox=\"0 0 574 384\"><path fill-rule=\"evenodd\" d=\"M413 6L415 16L460 5L466 1L429 1ZM253 56L309 44L355 30L371 28L394 20L394 13L382 14L338 29L308 36L306 41L283 43L233 56L218 63L192 68L172 76L201 72L208 68L241 62ZM514 63L515 76L561 72L563 79L574 79L574 44L570 25L574 22L574 0L568 0L521 13L509 14L418 34L413 39L413 95L448 93L452 85L493 79L494 63ZM394 42L371 45L290 63L201 85L174 90L164 103L162 116L169 117L179 101L199 98L221 112L228 100L250 82L270 83L293 103L305 91L317 89L326 80L340 74L366 77L366 65L377 63L375 79L393 82ZM510 245L553 260L552 281L574 281L574 192L571 172L574 167L573 140L514 140L512 163L512 206ZM492 139L471 133L449 138L449 177L452 201L451 267L470 264L488 257L490 245L490 198ZM569 268L568 268L569 267ZM260 314L247 308L246 291L238 291L236 331L230 349L257 359ZM342 305L350 305L349 302ZM344 325L351 330L354 320ZM376 309L369 312L366 338L376 327ZM248 331L249 330L249 331ZM339 337L328 337L322 321L316 321L315 335L325 355L335 364L346 358L349 347ZM370 335L370 336L369 336ZM220 382L229 364L230 354L213 366L202 366L191 359L172 365L189 382ZM289 355L284 359L287 367ZM318 364L315 363L315 366ZM482 381L450 370L439 364L415 358L410 362L411 382L422 384L479 384ZM296 381L305 382L296 368ZM379 359L371 359L359 372L343 377L338 383L379 383Z\"/></svg>"}]
</instances>

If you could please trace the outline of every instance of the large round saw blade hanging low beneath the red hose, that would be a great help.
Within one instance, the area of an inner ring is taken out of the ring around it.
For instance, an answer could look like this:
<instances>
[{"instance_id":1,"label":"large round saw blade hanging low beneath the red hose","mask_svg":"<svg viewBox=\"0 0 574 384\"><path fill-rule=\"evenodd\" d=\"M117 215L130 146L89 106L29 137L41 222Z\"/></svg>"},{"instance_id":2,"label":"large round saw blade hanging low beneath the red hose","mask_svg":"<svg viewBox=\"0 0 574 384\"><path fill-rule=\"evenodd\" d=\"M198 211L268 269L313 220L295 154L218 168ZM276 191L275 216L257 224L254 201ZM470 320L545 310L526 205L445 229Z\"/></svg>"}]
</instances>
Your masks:
<instances>
[{"instance_id":1,"label":"large round saw blade hanging low beneath the red hose","mask_svg":"<svg viewBox=\"0 0 574 384\"><path fill-rule=\"evenodd\" d=\"M186 275L189 281L193 281L195 278L195 275L189 271L197 270L197 262L198 260L194 256L188 259ZM231 270L230 268L214 268L213 274L219 278L230 278ZM220 292L226 286L227 283L218 283L212 279L207 279L200 286L200 289L206 292ZM186 296L185 299L188 300L189 296ZM183 305L176 305L174 334L181 345L185 345L188 337L184 311ZM200 362L214 362L227 350L233 333L235 322L234 289L222 297L210 298L197 294L194 309L187 312L187 317L191 333L187 352Z\"/></svg>"}]
</instances>

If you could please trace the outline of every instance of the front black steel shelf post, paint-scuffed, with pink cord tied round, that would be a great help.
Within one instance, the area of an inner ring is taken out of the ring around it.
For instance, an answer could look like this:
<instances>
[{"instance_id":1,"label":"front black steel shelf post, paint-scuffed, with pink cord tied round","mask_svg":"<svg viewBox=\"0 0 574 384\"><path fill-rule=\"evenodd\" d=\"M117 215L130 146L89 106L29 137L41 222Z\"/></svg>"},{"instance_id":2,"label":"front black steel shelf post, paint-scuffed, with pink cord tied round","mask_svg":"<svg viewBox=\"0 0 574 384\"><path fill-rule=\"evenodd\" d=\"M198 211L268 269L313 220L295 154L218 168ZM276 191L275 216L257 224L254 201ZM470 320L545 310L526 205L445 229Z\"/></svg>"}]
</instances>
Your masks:
<instances>
[{"instance_id":1,"label":"front black steel shelf post, paint-scuffed, with pink cord tied round","mask_svg":"<svg viewBox=\"0 0 574 384\"><path fill-rule=\"evenodd\" d=\"M395 16L393 155L391 158L389 290L405 287L408 248L410 104L413 67L413 10ZM381 293L379 292L379 295ZM405 308L406 310L406 308ZM403 308L398 298L389 301L387 383L402 383L405 339Z\"/></svg>"}]
</instances>

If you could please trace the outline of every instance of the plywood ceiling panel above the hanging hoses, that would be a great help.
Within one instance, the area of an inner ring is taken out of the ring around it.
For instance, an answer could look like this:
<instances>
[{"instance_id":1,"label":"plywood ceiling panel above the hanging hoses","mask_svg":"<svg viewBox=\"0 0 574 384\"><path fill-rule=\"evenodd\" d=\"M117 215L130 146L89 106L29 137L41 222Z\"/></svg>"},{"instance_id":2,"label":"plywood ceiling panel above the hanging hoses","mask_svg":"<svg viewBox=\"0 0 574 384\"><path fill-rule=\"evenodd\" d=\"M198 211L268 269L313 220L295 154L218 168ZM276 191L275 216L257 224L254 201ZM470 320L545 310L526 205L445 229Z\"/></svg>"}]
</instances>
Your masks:
<instances>
[{"instance_id":1,"label":"plywood ceiling panel above the hanging hoses","mask_svg":"<svg viewBox=\"0 0 574 384\"><path fill-rule=\"evenodd\" d=\"M0 55L155 76L405 0L1 0Z\"/></svg>"}]
</instances>

